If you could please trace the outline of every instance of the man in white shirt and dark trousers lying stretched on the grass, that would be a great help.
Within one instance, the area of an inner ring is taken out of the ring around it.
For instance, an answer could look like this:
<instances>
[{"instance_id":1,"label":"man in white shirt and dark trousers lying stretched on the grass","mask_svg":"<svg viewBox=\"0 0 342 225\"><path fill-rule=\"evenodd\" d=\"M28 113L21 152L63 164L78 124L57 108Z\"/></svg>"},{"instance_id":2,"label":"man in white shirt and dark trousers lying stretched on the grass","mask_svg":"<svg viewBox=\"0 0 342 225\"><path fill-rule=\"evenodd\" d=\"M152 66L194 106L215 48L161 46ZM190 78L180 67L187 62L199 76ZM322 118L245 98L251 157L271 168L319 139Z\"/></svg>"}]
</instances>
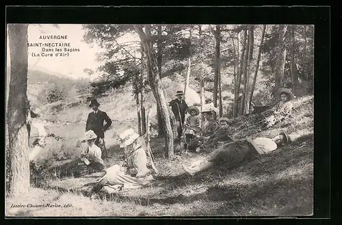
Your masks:
<instances>
[{"instance_id":1,"label":"man in white shirt and dark trousers lying stretched on the grass","mask_svg":"<svg viewBox=\"0 0 342 225\"><path fill-rule=\"evenodd\" d=\"M192 166L187 167L182 163L183 169L188 174L194 176L197 172L209 170L214 166L219 166L222 163L233 164L241 163L245 159L250 159L254 155L263 155L271 153L276 150L278 146L283 146L289 142L294 142L298 138L298 135L287 135L285 131L280 131L276 137L266 138L257 137L252 140L247 137L244 140L237 140L228 144L224 144L217 150L214 150L203 161L197 161ZM199 166L197 166L199 165Z\"/></svg>"}]
</instances>

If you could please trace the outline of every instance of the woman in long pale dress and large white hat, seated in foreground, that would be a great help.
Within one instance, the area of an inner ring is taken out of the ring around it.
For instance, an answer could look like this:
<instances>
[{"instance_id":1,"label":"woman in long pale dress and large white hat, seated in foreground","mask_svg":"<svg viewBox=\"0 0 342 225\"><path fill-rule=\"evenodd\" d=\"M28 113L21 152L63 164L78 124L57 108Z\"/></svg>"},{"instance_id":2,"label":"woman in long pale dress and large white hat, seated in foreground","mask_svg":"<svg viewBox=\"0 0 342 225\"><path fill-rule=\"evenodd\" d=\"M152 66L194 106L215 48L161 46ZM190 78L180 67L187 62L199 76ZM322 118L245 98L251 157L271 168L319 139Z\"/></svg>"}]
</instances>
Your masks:
<instances>
[{"instance_id":1,"label":"woman in long pale dress and large white hat, seated in foreground","mask_svg":"<svg viewBox=\"0 0 342 225\"><path fill-rule=\"evenodd\" d=\"M126 188L137 188L150 183L154 178L147 168L146 143L133 129L119 135L118 139L124 148L124 164L114 165L107 169L105 176L94 186L93 191L103 187L123 185Z\"/></svg>"}]
</instances>

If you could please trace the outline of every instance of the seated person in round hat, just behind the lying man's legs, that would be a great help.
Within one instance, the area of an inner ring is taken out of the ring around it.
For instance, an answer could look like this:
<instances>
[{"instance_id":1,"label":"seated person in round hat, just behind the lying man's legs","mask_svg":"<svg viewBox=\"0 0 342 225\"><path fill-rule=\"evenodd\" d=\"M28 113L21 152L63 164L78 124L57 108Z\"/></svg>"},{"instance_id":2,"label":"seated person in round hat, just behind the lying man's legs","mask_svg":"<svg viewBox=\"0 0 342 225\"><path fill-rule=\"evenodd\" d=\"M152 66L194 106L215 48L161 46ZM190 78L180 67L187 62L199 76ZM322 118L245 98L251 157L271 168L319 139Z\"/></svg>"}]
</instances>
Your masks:
<instances>
[{"instance_id":1,"label":"seated person in round hat, just behind the lying man's legs","mask_svg":"<svg viewBox=\"0 0 342 225\"><path fill-rule=\"evenodd\" d=\"M220 129L205 141L205 143L203 144L204 149L215 148L218 142L224 142L226 144L234 141L231 137L233 134L229 129L229 125L231 125L231 120L222 117L218 119L218 122L220 122Z\"/></svg>"}]
</instances>

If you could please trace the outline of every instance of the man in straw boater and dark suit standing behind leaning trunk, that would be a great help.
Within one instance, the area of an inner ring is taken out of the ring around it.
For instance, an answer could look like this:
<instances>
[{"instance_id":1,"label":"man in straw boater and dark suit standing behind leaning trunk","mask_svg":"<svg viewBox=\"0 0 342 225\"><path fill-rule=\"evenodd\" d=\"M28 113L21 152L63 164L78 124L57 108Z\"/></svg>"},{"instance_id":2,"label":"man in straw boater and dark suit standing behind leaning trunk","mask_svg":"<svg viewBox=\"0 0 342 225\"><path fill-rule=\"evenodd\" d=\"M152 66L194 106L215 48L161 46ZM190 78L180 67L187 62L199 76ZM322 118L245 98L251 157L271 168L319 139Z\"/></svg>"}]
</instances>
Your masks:
<instances>
[{"instance_id":1,"label":"man in straw boater and dark suit standing behind leaning trunk","mask_svg":"<svg viewBox=\"0 0 342 225\"><path fill-rule=\"evenodd\" d=\"M183 91L177 91L176 98L170 101L171 110L176 117L176 120L180 123L178 128L178 139L181 140L183 133L183 126L185 121L185 114L187 111L187 103L185 103Z\"/></svg>"}]
</instances>

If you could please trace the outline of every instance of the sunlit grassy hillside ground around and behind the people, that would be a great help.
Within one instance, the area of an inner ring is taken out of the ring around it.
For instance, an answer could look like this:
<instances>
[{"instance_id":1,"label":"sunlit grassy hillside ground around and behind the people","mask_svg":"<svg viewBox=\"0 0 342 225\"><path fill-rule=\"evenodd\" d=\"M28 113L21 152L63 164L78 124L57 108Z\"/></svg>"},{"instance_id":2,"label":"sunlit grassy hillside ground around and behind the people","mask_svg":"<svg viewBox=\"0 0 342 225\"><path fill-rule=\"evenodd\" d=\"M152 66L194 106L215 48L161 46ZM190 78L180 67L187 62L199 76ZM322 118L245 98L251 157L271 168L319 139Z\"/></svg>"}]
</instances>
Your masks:
<instances>
[{"instance_id":1,"label":"sunlit grassy hillside ground around and behind the people","mask_svg":"<svg viewBox=\"0 0 342 225\"><path fill-rule=\"evenodd\" d=\"M166 88L164 91L168 93L167 98L172 98L174 90ZM146 96L146 102L152 104L151 99L152 96ZM111 166L118 163L123 154L117 146L116 134L128 127L135 128L135 104L133 96L123 90L98 101L101 109L107 111L113 120L113 125L106 133L111 156L105 163ZM257 129L257 115L235 119L232 127L235 138L273 137L279 129L302 135L300 140L274 153L192 177L184 174L181 162L190 163L205 155L179 155L170 161L163 154L163 140L153 138L151 147L160 171L155 185L92 198L88 191L101 173L76 178L77 170L73 166L73 160L81 150L77 142L83 137L89 107L79 105L60 111L55 116L45 115L42 121L45 121L50 135L47 137L47 146L40 149L35 160L40 169L31 171L31 182L34 184L31 194L35 197L9 200L8 204L18 201L25 204L39 198L40 204L42 201L68 203L73 204L73 208L63 211L12 208L7 213L21 216L311 215L313 96L296 99L294 107L293 117L288 122L277 124L267 131ZM250 129L246 130L246 127ZM92 207L85 209L84 204Z\"/></svg>"}]
</instances>

